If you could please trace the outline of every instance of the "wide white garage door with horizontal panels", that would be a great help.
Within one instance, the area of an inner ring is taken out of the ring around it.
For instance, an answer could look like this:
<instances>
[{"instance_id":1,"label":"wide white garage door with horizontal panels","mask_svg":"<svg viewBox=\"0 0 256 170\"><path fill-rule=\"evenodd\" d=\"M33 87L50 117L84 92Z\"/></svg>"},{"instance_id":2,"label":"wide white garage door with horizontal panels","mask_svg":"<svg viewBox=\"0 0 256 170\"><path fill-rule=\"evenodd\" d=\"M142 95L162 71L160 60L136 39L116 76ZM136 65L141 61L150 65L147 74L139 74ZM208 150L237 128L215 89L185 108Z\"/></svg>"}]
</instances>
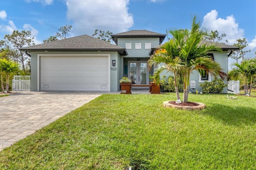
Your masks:
<instances>
[{"instance_id":1,"label":"wide white garage door with horizontal panels","mask_svg":"<svg viewBox=\"0 0 256 170\"><path fill-rule=\"evenodd\" d=\"M42 56L41 90L108 91L108 56Z\"/></svg>"}]
</instances>

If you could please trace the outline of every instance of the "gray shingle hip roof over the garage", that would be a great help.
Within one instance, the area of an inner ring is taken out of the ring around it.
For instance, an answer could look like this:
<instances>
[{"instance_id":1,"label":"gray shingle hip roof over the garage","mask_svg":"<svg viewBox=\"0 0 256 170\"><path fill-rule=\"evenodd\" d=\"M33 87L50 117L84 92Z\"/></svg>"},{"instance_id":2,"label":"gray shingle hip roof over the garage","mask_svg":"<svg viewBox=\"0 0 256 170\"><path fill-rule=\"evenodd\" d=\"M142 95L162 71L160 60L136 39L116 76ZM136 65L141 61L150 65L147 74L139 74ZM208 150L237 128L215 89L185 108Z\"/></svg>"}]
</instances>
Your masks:
<instances>
[{"instance_id":1,"label":"gray shingle hip roof over the garage","mask_svg":"<svg viewBox=\"0 0 256 170\"><path fill-rule=\"evenodd\" d=\"M21 51L118 51L127 55L125 48L99 40L92 36L82 35L54 42L48 42L21 48Z\"/></svg>"}]
</instances>

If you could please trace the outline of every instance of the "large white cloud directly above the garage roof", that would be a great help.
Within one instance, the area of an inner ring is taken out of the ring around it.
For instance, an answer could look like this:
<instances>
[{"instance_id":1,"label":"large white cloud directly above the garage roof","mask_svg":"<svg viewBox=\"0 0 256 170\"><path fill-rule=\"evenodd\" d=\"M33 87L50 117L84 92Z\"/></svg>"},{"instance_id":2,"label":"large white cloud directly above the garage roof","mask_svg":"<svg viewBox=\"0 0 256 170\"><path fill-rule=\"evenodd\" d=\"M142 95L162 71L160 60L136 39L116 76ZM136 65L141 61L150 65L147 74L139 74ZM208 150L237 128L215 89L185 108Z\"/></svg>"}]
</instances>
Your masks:
<instances>
[{"instance_id":1,"label":"large white cloud directly above the garage roof","mask_svg":"<svg viewBox=\"0 0 256 170\"><path fill-rule=\"evenodd\" d=\"M66 0L72 34L91 36L96 29L113 34L127 31L134 24L128 4L129 0Z\"/></svg>"}]
</instances>

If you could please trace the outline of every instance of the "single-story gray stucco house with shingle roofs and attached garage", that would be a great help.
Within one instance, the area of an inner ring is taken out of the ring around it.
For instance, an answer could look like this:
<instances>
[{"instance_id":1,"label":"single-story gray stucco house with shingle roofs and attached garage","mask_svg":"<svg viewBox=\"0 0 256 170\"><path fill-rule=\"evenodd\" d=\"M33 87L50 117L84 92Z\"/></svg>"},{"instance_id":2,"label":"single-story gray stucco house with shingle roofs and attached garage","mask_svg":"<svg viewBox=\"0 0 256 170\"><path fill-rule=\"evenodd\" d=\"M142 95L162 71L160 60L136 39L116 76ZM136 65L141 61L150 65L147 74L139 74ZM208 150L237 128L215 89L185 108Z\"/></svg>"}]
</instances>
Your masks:
<instances>
[{"instance_id":1,"label":"single-story gray stucco house with shingle roofs and attached garage","mask_svg":"<svg viewBox=\"0 0 256 170\"><path fill-rule=\"evenodd\" d=\"M149 84L154 68L148 70L147 61L166 34L132 30L111 36L116 45L82 35L20 49L31 53L31 91L119 91L122 77ZM209 53L228 72L228 53L237 47L218 45L223 52ZM207 79L191 76L196 88Z\"/></svg>"}]
</instances>

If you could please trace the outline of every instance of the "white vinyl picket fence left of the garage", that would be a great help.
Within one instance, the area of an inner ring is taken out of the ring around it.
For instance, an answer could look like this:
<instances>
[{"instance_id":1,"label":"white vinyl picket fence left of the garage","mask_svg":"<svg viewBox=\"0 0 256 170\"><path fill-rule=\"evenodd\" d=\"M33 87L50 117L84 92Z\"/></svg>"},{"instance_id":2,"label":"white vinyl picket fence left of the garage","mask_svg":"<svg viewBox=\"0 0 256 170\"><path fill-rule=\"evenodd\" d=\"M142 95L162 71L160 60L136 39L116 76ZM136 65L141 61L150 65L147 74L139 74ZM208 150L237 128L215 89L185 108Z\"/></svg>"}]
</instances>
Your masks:
<instances>
[{"instance_id":1,"label":"white vinyl picket fence left of the garage","mask_svg":"<svg viewBox=\"0 0 256 170\"><path fill-rule=\"evenodd\" d=\"M12 79L12 91L30 90L30 75L14 75Z\"/></svg>"}]
</instances>

